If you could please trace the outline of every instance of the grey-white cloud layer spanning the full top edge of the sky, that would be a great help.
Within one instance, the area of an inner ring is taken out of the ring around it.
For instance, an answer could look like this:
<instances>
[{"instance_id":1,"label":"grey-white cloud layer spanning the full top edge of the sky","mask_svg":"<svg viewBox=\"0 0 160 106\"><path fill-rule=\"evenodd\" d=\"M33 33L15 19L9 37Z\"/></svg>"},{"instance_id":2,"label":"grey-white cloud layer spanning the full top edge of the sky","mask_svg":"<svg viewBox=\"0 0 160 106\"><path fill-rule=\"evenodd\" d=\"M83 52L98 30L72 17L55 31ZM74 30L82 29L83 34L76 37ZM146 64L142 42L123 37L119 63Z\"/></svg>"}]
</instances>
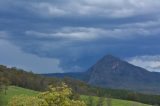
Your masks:
<instances>
[{"instance_id":1,"label":"grey-white cloud layer spanning the full top edge of the sky","mask_svg":"<svg viewBox=\"0 0 160 106\"><path fill-rule=\"evenodd\" d=\"M145 14L160 13L159 0L62 0L1 1L1 10L15 12L16 7L39 14L42 17L105 17L125 18Z\"/></svg>"}]
</instances>

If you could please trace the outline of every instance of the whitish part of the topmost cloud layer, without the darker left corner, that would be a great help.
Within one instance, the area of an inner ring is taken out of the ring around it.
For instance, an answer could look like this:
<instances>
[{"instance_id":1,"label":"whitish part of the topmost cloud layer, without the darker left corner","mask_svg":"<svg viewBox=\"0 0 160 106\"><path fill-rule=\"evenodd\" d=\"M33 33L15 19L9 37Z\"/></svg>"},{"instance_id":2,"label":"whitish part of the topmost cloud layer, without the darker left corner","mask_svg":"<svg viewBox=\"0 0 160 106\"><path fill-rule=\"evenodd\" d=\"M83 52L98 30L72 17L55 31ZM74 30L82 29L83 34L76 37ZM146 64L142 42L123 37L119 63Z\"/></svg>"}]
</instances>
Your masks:
<instances>
[{"instance_id":1,"label":"whitish part of the topmost cloud layer, without the darker left corner","mask_svg":"<svg viewBox=\"0 0 160 106\"><path fill-rule=\"evenodd\" d=\"M99 16L106 18L124 18L136 15L159 13L158 0L69 0L67 3L40 2L33 10L44 16ZM48 14L48 15L47 15Z\"/></svg>"}]
</instances>

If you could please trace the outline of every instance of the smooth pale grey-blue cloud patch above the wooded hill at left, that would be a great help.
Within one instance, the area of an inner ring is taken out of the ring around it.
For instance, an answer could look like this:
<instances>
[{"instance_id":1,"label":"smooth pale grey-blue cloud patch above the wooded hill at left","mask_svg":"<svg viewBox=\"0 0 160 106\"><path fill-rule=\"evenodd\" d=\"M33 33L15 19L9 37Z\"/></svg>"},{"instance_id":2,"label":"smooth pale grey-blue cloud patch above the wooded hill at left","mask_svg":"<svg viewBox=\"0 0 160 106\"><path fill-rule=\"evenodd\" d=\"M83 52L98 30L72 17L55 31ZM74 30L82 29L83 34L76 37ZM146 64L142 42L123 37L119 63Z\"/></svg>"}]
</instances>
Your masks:
<instances>
[{"instance_id":1,"label":"smooth pale grey-blue cloud patch above the wooded hill at left","mask_svg":"<svg viewBox=\"0 0 160 106\"><path fill-rule=\"evenodd\" d=\"M49 59L25 53L6 40L0 40L0 48L0 64L10 67L16 66L36 73L63 72L59 67L60 62L58 59Z\"/></svg>"}]
</instances>

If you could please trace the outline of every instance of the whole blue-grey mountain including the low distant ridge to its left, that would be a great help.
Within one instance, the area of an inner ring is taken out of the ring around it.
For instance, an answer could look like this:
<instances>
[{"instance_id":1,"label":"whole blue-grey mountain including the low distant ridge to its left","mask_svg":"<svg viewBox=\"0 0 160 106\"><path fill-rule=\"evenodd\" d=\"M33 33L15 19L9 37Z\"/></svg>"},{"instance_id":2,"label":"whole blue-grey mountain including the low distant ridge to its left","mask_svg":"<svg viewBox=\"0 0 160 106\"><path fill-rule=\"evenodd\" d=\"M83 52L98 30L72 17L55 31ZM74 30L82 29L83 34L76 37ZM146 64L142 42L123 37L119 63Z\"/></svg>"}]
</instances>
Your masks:
<instances>
[{"instance_id":1,"label":"whole blue-grey mountain including the low distant ridge to its left","mask_svg":"<svg viewBox=\"0 0 160 106\"><path fill-rule=\"evenodd\" d=\"M83 73L48 74L72 77L88 84L116 89L160 93L160 73L149 72L112 55L106 55Z\"/></svg>"}]
</instances>

